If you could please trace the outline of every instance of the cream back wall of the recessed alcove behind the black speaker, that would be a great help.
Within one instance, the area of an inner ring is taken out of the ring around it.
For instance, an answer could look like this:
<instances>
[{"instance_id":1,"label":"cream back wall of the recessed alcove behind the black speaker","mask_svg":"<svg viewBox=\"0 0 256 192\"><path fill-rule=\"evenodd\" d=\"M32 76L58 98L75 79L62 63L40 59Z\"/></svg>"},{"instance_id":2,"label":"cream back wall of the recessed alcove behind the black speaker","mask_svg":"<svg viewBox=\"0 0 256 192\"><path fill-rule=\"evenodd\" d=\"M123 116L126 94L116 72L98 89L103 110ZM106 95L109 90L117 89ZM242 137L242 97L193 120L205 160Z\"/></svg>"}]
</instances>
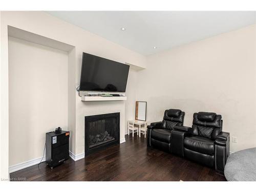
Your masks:
<instances>
[{"instance_id":1,"label":"cream back wall of the recessed alcove behind the black speaker","mask_svg":"<svg viewBox=\"0 0 256 192\"><path fill-rule=\"evenodd\" d=\"M40 158L68 127L68 53L9 37L9 165Z\"/></svg>"}]
</instances>

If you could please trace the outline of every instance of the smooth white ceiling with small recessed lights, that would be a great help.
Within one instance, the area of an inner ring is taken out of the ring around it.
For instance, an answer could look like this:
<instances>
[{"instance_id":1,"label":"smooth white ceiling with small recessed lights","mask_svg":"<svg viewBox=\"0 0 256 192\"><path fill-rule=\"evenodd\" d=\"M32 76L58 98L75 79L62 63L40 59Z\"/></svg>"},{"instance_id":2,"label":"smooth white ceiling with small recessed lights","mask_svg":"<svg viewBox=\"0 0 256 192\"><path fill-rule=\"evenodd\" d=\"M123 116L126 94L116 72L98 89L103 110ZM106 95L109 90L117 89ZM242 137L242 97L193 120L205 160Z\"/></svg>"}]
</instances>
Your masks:
<instances>
[{"instance_id":1,"label":"smooth white ceiling with small recessed lights","mask_svg":"<svg viewBox=\"0 0 256 192\"><path fill-rule=\"evenodd\" d=\"M47 11L117 44L150 55L256 23L252 11ZM124 27L125 31L121 28ZM153 49L156 46L157 49Z\"/></svg>"}]
</instances>

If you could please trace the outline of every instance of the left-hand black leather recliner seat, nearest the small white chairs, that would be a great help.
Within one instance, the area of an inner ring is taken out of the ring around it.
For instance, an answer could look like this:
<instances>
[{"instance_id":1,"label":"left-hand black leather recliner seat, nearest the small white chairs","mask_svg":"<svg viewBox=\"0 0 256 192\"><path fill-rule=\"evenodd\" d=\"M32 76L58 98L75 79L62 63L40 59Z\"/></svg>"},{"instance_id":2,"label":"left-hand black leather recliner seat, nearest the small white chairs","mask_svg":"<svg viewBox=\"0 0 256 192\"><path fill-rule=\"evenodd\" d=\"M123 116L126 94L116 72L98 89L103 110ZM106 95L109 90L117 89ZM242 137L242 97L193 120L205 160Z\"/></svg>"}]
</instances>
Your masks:
<instances>
[{"instance_id":1,"label":"left-hand black leather recliner seat, nearest the small white chairs","mask_svg":"<svg viewBox=\"0 0 256 192\"><path fill-rule=\"evenodd\" d=\"M147 126L147 145L172 152L171 133L175 126L183 125L185 112L176 109L165 110L163 121Z\"/></svg>"}]
</instances>

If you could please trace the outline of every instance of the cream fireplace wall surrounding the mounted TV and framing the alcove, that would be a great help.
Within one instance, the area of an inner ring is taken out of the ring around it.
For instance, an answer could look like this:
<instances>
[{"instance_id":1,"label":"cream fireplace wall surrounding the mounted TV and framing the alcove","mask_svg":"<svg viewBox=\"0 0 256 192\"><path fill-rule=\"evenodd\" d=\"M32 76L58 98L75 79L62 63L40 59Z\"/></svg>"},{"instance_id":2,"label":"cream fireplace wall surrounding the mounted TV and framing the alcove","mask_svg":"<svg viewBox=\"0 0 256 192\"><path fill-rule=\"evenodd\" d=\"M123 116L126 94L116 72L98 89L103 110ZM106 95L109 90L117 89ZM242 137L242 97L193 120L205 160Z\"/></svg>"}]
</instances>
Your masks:
<instances>
[{"instance_id":1,"label":"cream fireplace wall surrounding the mounted TV and framing the alcove","mask_svg":"<svg viewBox=\"0 0 256 192\"><path fill-rule=\"evenodd\" d=\"M40 21L40 22L38 22ZM80 100L75 90L75 85L79 83L81 55L82 52L98 55L108 59L112 59L122 63L131 63L134 66L146 67L145 57L126 49L120 45L106 40L100 36L85 31L79 27L63 22L62 20L53 17L41 11L4 11L1 12L1 143L5 144L5 148L1 145L1 157L6 157L2 163L3 169L1 174L8 177L8 26L22 29L34 34L38 34L53 40L64 42L65 44L74 47L75 51L72 58L69 58L69 63L74 63L73 69L75 74L75 83L69 84L69 101L75 99L74 117L69 118L69 127L72 130L71 134L71 151L74 154L84 152L84 116L91 113L106 113L113 110L121 112L120 123L120 139L124 138L125 129L125 104L120 102L101 102L99 103L84 103ZM71 60L70 60L71 59ZM70 70L70 69L69 69ZM3 76L2 76L3 74ZM69 76L72 76L69 74ZM73 86L72 86L73 84ZM73 90L72 90L73 87ZM2 94L3 93L3 94ZM71 98L73 97L73 98ZM73 102L73 101L72 101ZM70 106L70 105L69 105ZM92 107L93 106L93 110ZM70 107L69 107L70 109ZM73 109L70 109L70 112ZM3 126L3 127L2 127ZM122 135L121 135L122 134ZM74 143L75 142L75 143ZM74 146L75 145L75 146Z\"/></svg>"}]
</instances>

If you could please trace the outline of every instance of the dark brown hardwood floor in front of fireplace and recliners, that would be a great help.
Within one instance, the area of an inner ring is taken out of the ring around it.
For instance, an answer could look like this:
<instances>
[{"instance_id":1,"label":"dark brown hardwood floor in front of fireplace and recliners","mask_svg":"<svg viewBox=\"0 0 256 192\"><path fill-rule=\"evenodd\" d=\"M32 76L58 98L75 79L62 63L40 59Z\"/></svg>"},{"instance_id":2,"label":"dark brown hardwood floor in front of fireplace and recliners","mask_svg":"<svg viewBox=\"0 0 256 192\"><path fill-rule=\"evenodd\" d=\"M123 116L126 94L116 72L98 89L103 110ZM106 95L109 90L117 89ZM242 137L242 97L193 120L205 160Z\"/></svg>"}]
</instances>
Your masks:
<instances>
[{"instance_id":1,"label":"dark brown hardwood floor in front of fireplace and recliners","mask_svg":"<svg viewBox=\"0 0 256 192\"><path fill-rule=\"evenodd\" d=\"M126 142L91 154L71 158L53 169L45 163L10 174L27 181L226 181L214 169L181 157L147 148L144 137L125 136ZM16 179L14 179L16 178Z\"/></svg>"}]
</instances>

